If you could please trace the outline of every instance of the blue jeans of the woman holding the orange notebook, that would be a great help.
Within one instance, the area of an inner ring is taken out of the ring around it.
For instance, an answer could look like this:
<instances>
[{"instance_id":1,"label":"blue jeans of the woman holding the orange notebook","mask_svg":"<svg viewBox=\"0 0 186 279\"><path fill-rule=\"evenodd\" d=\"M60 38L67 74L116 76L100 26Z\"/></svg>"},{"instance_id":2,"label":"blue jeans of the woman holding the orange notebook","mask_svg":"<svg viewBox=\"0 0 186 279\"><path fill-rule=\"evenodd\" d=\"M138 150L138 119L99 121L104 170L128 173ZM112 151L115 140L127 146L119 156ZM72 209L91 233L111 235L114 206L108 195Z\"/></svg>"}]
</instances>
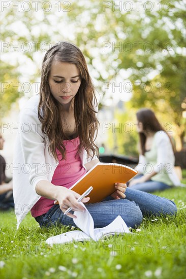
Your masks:
<instances>
[{"instance_id":1,"label":"blue jeans of the woman holding the orange notebook","mask_svg":"<svg viewBox=\"0 0 186 279\"><path fill-rule=\"evenodd\" d=\"M126 222L128 227L135 228L139 226L145 215L175 215L176 205L173 201L142 191L127 188L125 199L113 199L108 196L101 202L85 203L85 206L91 214L95 228L101 228L109 225L118 215ZM59 204L53 205L50 210L41 216L36 217L40 227L50 225L71 225L75 226L72 218L60 210Z\"/></svg>"}]
</instances>

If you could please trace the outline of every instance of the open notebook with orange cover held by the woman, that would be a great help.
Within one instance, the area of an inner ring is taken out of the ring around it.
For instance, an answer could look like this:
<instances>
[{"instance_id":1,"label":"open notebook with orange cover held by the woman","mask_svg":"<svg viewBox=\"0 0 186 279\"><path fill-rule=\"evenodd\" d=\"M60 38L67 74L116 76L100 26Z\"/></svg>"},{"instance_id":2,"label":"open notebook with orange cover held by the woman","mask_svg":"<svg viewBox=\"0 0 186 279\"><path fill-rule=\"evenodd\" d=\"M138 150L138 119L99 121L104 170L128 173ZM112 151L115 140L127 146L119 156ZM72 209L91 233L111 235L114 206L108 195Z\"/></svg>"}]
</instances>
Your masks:
<instances>
[{"instance_id":1,"label":"open notebook with orange cover held by the woman","mask_svg":"<svg viewBox=\"0 0 186 279\"><path fill-rule=\"evenodd\" d=\"M90 197L87 203L99 202L115 192L114 184L116 182L126 183L137 173L135 169L129 166L115 163L97 163L70 190L82 195L92 186L93 190L87 195Z\"/></svg>"}]
</instances>

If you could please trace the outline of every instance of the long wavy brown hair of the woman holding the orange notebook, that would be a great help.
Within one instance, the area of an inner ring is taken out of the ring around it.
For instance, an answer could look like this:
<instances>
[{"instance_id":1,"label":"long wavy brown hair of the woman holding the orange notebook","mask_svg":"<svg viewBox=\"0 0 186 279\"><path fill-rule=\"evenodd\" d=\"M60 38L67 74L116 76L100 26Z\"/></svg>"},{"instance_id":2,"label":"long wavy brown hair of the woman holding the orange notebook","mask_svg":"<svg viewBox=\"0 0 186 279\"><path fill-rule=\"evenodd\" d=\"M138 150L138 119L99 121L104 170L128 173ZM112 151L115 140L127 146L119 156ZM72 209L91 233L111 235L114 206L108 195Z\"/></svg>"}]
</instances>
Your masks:
<instances>
[{"instance_id":1,"label":"long wavy brown hair of the woman holding the orange notebook","mask_svg":"<svg viewBox=\"0 0 186 279\"><path fill-rule=\"evenodd\" d=\"M60 117L61 106L51 94L48 82L54 58L61 62L73 63L80 71L81 85L74 97L75 131L80 138L77 153L84 148L88 156L93 157L98 153L98 147L94 143L99 124L95 109L98 102L85 58L80 49L69 42L58 42L51 47L46 52L42 63L38 117L42 123L42 132L47 134L50 141L49 152L57 161L57 148L62 159L66 158L66 148L63 144L66 135Z\"/></svg>"}]
</instances>

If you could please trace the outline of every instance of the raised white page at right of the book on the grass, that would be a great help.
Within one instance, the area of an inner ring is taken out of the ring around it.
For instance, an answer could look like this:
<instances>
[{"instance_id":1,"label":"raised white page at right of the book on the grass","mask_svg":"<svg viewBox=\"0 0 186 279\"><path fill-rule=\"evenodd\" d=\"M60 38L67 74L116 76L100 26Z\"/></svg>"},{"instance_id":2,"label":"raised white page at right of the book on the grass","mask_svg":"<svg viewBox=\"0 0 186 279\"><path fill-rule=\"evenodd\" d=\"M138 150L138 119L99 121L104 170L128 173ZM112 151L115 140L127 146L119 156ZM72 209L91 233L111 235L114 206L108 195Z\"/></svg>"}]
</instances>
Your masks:
<instances>
[{"instance_id":1,"label":"raised white page at right of the book on the grass","mask_svg":"<svg viewBox=\"0 0 186 279\"><path fill-rule=\"evenodd\" d=\"M115 233L131 233L126 222L118 215L112 223L103 228L94 229L96 240L103 235L113 235Z\"/></svg>"}]
</instances>

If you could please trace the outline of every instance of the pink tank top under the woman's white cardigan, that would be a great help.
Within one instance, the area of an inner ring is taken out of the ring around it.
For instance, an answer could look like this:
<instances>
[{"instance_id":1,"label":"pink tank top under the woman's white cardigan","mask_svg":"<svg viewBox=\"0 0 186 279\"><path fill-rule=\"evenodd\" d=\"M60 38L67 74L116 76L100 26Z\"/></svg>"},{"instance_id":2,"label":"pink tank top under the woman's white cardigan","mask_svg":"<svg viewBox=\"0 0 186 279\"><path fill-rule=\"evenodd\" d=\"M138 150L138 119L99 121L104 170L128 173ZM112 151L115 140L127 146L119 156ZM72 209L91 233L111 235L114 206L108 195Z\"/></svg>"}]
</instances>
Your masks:
<instances>
[{"instance_id":1,"label":"pink tank top under the woman's white cardigan","mask_svg":"<svg viewBox=\"0 0 186 279\"><path fill-rule=\"evenodd\" d=\"M61 154L56 149L59 164L54 171L51 183L70 188L86 173L86 170L82 166L79 154L76 155L79 147L79 137L64 141L64 145L66 147L66 160L61 160ZM53 205L54 200L41 197L33 206L31 214L33 217L43 215Z\"/></svg>"}]
</instances>

